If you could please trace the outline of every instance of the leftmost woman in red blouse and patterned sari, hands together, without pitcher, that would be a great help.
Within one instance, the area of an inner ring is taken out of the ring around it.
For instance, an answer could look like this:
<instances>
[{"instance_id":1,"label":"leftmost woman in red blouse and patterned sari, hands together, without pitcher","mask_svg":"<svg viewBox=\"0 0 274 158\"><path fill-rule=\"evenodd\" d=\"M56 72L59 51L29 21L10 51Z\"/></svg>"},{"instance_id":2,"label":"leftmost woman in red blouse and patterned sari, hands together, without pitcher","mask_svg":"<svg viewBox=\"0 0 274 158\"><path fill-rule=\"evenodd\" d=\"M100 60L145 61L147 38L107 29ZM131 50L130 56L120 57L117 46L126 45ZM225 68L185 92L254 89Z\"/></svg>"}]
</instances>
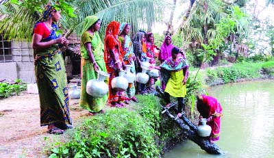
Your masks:
<instances>
[{"instance_id":1,"label":"leftmost woman in red blouse and patterned sari, hands together, without pitcher","mask_svg":"<svg viewBox=\"0 0 274 158\"><path fill-rule=\"evenodd\" d=\"M34 26L32 47L34 49L34 69L40 98L40 124L48 126L48 133L62 134L63 129L71 129L69 114L69 94L66 68L60 47L69 41L58 34L60 10L46 5L43 16Z\"/></svg>"}]
</instances>

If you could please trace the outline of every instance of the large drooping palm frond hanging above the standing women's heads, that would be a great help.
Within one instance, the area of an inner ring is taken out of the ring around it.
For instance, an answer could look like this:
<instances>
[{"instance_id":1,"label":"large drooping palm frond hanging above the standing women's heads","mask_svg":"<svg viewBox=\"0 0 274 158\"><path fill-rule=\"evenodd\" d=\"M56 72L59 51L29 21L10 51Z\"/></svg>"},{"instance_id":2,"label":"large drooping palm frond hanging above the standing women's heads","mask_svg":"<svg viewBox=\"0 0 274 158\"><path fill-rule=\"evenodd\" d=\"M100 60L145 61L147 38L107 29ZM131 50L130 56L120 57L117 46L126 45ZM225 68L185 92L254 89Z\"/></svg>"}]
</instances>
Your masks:
<instances>
[{"instance_id":1,"label":"large drooping palm frond hanging above the standing women's heads","mask_svg":"<svg viewBox=\"0 0 274 158\"><path fill-rule=\"evenodd\" d=\"M75 4L77 1L75 1ZM165 6L165 7L164 7ZM135 33L140 28L144 28L146 24L152 24L164 18L163 12L166 6L172 7L171 3L165 1L152 0L112 0L112 1L82 1L77 5L77 20L75 31L81 33L82 22L86 16L97 15L102 19L101 30L111 21L127 22L132 25L132 31ZM65 23L63 23L65 25ZM64 26L66 29L70 25ZM103 32L104 34L104 32Z\"/></svg>"}]
</instances>

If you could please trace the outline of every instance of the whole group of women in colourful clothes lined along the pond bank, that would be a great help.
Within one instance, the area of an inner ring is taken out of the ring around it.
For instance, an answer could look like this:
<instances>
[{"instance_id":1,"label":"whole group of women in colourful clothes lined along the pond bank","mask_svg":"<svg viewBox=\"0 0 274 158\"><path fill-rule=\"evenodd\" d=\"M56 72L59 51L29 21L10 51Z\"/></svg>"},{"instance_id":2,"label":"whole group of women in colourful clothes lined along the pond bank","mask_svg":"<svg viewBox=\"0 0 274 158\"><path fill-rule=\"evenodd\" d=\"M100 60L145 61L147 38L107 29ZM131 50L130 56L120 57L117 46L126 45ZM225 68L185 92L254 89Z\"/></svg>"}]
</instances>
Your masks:
<instances>
[{"instance_id":1,"label":"whole group of women in colourful clothes lined along the pond bank","mask_svg":"<svg viewBox=\"0 0 274 158\"><path fill-rule=\"evenodd\" d=\"M52 5L46 5L43 16L34 26L32 46L34 48L34 64L36 82L40 98L40 124L48 127L48 133L62 134L65 129L71 129L72 120L69 111L69 94L66 81L66 71L62 58L61 47L66 47L69 41L58 33L55 22L60 20L60 11ZM129 23L112 21L105 29L105 38L99 36L101 20L97 16L87 16L84 19L81 38L82 54L82 87L79 105L89 111L90 115L103 113L103 107L109 102L112 107L123 107L130 101L137 102L135 94L155 92L154 79L147 84L129 83L125 92L117 91L110 84L125 66L131 67L131 73L140 72L141 62L149 60L151 68L161 70L161 87L164 90L164 100L169 107L170 96L178 99L179 113L182 116L184 96L186 95L186 80L188 79L188 64L186 55L171 44L171 36L166 36L164 43L158 49L153 44L153 34L138 31L133 40L129 37ZM158 60L160 66L155 66L154 49L160 50ZM99 71L108 73L109 94L95 98L86 92L86 84L90 79L97 79ZM208 100L206 100L208 99ZM200 97L199 111L201 116L214 120L219 128L221 105L214 98ZM209 106L212 103L212 106ZM213 106L214 103L214 106ZM208 106L206 106L208 105ZM198 104L197 104L198 106ZM211 109L205 109L210 107ZM215 110L216 109L216 110ZM207 113L207 110L210 113ZM218 139L219 131L215 130L214 139Z\"/></svg>"}]
</instances>

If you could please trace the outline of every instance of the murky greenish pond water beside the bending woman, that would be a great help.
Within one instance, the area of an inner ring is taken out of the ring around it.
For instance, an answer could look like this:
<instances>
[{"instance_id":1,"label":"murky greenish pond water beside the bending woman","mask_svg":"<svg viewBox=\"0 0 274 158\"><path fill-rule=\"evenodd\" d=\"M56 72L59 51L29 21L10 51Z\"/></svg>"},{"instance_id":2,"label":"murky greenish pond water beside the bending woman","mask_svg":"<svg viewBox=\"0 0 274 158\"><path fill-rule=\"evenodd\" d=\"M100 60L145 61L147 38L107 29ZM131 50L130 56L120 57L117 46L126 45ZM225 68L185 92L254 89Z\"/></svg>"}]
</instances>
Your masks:
<instances>
[{"instance_id":1,"label":"murky greenish pond water beside the bending woman","mask_svg":"<svg viewBox=\"0 0 274 158\"><path fill-rule=\"evenodd\" d=\"M225 155L209 155L187 140L166 153L165 158L274 157L274 80L219 85L208 92L223 107L216 144Z\"/></svg>"}]
</instances>

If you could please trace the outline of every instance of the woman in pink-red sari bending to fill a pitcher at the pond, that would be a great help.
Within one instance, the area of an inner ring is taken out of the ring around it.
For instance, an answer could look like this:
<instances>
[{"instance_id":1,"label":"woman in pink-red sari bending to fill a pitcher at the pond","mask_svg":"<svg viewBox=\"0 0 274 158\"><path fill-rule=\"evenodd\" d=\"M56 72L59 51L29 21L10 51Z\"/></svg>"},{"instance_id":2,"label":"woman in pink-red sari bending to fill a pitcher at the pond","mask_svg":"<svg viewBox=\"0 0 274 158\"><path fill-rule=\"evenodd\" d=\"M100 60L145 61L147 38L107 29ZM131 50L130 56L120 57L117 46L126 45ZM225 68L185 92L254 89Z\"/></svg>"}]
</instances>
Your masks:
<instances>
[{"instance_id":1,"label":"woman in pink-red sari bending to fill a pitcher at the pond","mask_svg":"<svg viewBox=\"0 0 274 158\"><path fill-rule=\"evenodd\" d=\"M207 118L207 124L211 127L210 142L219 140L221 129L222 107L216 98L212 96L199 95L197 96L197 109L200 113L200 118Z\"/></svg>"}]
</instances>

